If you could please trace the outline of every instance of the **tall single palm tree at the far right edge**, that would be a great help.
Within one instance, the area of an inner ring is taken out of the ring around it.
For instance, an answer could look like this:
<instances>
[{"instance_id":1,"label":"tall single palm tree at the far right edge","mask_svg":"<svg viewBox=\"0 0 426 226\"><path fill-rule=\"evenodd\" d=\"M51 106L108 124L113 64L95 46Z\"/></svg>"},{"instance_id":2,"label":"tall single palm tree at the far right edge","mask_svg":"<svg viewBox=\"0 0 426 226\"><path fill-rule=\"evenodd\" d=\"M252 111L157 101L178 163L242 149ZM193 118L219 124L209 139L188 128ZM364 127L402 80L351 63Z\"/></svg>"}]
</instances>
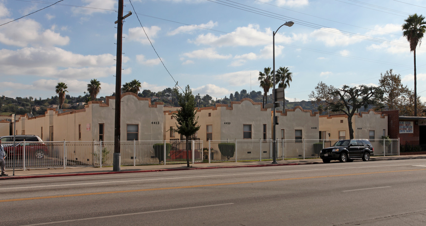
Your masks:
<instances>
[{"instance_id":1,"label":"tall single palm tree at the far right edge","mask_svg":"<svg viewBox=\"0 0 426 226\"><path fill-rule=\"evenodd\" d=\"M414 117L417 117L417 77L416 77L416 47L422 43L423 34L426 31L426 21L422 14L410 15L402 25L403 36L410 43L410 52L414 52Z\"/></svg>"}]
</instances>

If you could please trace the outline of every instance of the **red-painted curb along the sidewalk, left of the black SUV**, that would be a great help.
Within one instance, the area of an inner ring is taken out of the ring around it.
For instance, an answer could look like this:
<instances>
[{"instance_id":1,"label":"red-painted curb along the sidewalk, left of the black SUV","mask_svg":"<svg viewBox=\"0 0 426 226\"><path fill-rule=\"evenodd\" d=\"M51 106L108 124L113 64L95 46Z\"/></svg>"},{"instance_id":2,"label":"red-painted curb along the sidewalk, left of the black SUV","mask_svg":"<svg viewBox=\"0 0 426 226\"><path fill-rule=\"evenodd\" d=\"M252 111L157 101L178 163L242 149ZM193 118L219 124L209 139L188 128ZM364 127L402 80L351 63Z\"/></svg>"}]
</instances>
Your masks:
<instances>
[{"instance_id":1,"label":"red-painted curb along the sidewalk, left of the black SUV","mask_svg":"<svg viewBox=\"0 0 426 226\"><path fill-rule=\"evenodd\" d=\"M195 169L225 169L225 168L262 167L262 166L295 166L295 165L311 165L311 164L320 164L320 162L314 162L314 163L281 163L281 164L245 165L245 166L190 167L190 168L184 168L184 169L178 169L178 168L174 168L174 169L149 169L149 170L120 171L120 172L71 173L71 174L34 175L34 176L7 176L7 177L0 177L0 180L20 180L20 179L46 178L46 177L72 177L72 176L107 175L107 174L124 174L124 173L165 172L165 171L182 171L182 170L195 170Z\"/></svg>"}]
</instances>

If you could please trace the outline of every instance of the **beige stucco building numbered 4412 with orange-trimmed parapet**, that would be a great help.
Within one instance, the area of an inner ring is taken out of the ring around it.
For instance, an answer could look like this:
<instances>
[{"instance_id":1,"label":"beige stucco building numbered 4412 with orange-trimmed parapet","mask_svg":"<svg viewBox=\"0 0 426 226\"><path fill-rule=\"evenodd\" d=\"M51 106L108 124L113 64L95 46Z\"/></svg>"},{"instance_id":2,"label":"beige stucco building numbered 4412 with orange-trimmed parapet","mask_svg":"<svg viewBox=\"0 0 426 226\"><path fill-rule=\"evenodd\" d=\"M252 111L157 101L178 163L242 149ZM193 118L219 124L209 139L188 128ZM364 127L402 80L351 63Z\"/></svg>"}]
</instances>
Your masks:
<instances>
[{"instance_id":1,"label":"beige stucco building numbered 4412 with orange-trimmed parapet","mask_svg":"<svg viewBox=\"0 0 426 226\"><path fill-rule=\"evenodd\" d=\"M163 140L163 103L151 103L133 93L122 94L121 139ZM46 114L17 116L15 132L38 135L44 141L114 140L115 97L90 101L84 109L58 111L48 109Z\"/></svg>"}]
</instances>

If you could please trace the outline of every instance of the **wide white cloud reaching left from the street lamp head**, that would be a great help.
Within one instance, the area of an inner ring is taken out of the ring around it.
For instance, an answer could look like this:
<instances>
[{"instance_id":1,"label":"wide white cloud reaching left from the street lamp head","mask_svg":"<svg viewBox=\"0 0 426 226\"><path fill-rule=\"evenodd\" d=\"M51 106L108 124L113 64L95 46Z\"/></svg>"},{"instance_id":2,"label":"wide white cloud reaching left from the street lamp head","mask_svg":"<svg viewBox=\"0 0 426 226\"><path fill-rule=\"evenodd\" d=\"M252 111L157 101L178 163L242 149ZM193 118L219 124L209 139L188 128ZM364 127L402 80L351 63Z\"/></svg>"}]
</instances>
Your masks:
<instances>
[{"instance_id":1,"label":"wide white cloud reaching left from the street lamp head","mask_svg":"<svg viewBox=\"0 0 426 226\"><path fill-rule=\"evenodd\" d=\"M248 38L250 37L250 38ZM249 24L247 27L238 27L231 34L216 36L214 34L201 34L192 43L210 46L259 46L272 41L272 30L260 30L259 25ZM291 37L282 33L275 35L276 43L291 43Z\"/></svg>"}]
</instances>

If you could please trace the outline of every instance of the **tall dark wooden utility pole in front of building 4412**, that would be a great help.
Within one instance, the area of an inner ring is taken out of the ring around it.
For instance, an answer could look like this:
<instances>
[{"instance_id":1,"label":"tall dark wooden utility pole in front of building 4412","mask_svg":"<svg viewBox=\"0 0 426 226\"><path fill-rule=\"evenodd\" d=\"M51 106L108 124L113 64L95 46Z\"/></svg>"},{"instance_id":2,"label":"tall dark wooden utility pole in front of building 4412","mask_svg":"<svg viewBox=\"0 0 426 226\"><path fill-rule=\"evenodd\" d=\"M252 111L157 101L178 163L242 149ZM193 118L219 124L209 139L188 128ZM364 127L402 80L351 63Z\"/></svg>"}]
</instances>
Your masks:
<instances>
[{"instance_id":1,"label":"tall dark wooden utility pole in front of building 4412","mask_svg":"<svg viewBox=\"0 0 426 226\"><path fill-rule=\"evenodd\" d=\"M114 157L112 170L120 171L120 123L121 123L121 53L123 49L123 20L130 16L130 11L123 17L123 0L118 0L117 24L117 65L115 66L115 125L114 125Z\"/></svg>"}]
</instances>

